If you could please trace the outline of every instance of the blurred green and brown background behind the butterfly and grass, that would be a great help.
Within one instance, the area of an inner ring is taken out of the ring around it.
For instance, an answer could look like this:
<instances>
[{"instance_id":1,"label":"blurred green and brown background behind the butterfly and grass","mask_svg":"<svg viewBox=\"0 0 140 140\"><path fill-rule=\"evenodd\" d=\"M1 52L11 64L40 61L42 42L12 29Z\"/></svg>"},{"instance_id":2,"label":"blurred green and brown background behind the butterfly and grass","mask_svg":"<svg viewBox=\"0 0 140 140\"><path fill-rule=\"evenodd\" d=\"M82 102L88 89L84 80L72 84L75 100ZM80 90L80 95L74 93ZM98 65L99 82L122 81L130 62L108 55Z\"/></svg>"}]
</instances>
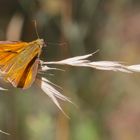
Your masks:
<instances>
[{"instance_id":1,"label":"blurred green and brown background behind the butterfly and grass","mask_svg":"<svg viewBox=\"0 0 140 140\"><path fill-rule=\"evenodd\" d=\"M139 0L0 0L0 40L48 42L41 59L100 51L92 60L140 63ZM45 74L78 106L66 118L34 84L0 91L1 140L139 140L140 74L59 67ZM1 82L1 85L3 83Z\"/></svg>"}]
</instances>

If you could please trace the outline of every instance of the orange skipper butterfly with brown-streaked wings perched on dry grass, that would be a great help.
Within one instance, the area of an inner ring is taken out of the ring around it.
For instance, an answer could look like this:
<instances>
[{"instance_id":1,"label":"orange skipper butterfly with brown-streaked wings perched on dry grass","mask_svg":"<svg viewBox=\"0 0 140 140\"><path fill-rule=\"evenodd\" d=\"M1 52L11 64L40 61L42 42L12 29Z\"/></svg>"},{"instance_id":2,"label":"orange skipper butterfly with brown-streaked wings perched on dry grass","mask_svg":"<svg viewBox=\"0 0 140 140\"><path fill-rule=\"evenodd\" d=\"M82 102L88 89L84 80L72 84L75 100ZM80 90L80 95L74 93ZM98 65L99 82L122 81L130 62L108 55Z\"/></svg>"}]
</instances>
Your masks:
<instances>
[{"instance_id":1,"label":"orange skipper butterfly with brown-streaked wings perched on dry grass","mask_svg":"<svg viewBox=\"0 0 140 140\"><path fill-rule=\"evenodd\" d=\"M32 42L0 41L0 73L14 87L26 89L34 82L43 39Z\"/></svg>"}]
</instances>

